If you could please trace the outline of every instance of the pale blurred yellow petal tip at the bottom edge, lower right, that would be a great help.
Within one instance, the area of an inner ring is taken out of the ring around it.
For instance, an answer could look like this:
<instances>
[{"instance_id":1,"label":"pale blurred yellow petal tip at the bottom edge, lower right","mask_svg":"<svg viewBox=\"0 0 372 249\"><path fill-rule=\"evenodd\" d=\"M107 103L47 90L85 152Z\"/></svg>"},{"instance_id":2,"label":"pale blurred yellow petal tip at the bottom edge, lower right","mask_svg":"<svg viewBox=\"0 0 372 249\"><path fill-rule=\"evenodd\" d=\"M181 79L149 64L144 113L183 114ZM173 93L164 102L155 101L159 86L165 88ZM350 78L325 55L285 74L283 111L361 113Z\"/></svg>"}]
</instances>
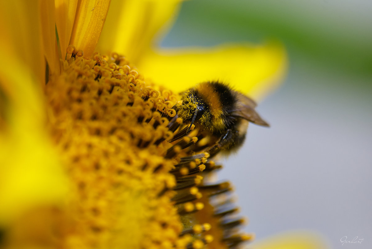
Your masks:
<instances>
[{"instance_id":1,"label":"pale blurred yellow petal tip at the bottom edge, lower right","mask_svg":"<svg viewBox=\"0 0 372 249\"><path fill-rule=\"evenodd\" d=\"M253 242L252 249L326 249L330 248L320 234L308 231L286 232Z\"/></svg>"}]
</instances>

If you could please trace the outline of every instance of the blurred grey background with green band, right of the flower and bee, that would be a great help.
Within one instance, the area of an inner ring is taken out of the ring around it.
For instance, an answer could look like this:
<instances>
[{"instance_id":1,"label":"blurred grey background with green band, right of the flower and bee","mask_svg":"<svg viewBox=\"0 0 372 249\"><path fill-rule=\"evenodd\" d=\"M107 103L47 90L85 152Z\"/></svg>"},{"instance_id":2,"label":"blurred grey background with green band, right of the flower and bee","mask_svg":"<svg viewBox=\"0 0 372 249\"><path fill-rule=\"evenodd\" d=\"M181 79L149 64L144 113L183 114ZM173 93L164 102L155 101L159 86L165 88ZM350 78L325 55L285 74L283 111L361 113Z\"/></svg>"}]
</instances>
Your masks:
<instances>
[{"instance_id":1,"label":"blurred grey background with green band, right of the flower and bee","mask_svg":"<svg viewBox=\"0 0 372 249\"><path fill-rule=\"evenodd\" d=\"M307 229L332 248L372 248L372 1L186 1L163 47L282 41L283 86L263 100L266 129L223 163L264 239ZM364 239L341 245L341 237Z\"/></svg>"}]
</instances>

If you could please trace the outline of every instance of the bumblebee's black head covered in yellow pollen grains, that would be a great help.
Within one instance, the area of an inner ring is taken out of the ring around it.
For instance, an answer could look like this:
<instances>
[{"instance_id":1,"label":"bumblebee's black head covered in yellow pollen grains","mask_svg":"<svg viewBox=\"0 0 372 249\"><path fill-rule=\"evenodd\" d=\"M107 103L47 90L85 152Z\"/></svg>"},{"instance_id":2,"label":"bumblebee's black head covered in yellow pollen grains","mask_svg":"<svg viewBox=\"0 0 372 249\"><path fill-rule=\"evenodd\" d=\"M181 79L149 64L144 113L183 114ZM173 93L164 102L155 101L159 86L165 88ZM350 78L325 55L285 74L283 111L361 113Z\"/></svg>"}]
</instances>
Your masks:
<instances>
[{"instance_id":1,"label":"bumblebee's black head covered in yellow pollen grains","mask_svg":"<svg viewBox=\"0 0 372 249\"><path fill-rule=\"evenodd\" d=\"M186 123L190 122L189 129L194 122L205 125L211 118L208 105L193 90L185 93L182 104L178 105L177 109L179 117Z\"/></svg>"}]
</instances>

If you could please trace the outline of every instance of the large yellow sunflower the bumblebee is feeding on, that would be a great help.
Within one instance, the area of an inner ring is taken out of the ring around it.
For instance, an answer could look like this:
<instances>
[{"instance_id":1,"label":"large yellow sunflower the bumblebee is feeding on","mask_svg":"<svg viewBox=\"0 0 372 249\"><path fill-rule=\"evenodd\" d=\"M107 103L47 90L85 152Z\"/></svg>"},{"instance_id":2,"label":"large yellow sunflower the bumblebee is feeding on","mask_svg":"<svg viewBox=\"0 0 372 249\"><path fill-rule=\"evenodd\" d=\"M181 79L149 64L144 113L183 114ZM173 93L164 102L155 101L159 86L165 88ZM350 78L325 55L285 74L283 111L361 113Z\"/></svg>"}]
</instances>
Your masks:
<instances>
[{"instance_id":1,"label":"large yellow sunflower the bumblebee is feeding on","mask_svg":"<svg viewBox=\"0 0 372 249\"><path fill-rule=\"evenodd\" d=\"M230 183L206 180L221 166L193 153L208 142L197 128L185 134L173 106L208 77L244 82L236 87L258 98L282 77L285 52L154 49L178 7L0 3L1 246L229 248L253 238L238 229Z\"/></svg>"}]
</instances>

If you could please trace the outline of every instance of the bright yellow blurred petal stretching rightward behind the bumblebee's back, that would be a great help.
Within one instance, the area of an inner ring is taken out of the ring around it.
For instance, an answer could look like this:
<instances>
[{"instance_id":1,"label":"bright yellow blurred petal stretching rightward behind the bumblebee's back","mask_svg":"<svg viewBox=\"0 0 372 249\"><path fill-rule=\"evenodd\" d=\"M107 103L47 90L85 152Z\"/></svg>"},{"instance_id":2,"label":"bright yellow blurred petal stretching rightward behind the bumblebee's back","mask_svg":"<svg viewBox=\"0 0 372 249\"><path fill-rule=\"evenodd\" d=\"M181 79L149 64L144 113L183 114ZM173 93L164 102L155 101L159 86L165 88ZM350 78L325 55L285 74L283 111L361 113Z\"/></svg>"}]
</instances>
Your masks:
<instances>
[{"instance_id":1,"label":"bright yellow blurred petal stretching rightward behind the bumblebee's back","mask_svg":"<svg viewBox=\"0 0 372 249\"><path fill-rule=\"evenodd\" d=\"M145 77L174 91L181 92L203 81L221 80L260 99L278 86L286 71L287 57L280 44L221 45L149 52L137 66Z\"/></svg>"}]
</instances>

